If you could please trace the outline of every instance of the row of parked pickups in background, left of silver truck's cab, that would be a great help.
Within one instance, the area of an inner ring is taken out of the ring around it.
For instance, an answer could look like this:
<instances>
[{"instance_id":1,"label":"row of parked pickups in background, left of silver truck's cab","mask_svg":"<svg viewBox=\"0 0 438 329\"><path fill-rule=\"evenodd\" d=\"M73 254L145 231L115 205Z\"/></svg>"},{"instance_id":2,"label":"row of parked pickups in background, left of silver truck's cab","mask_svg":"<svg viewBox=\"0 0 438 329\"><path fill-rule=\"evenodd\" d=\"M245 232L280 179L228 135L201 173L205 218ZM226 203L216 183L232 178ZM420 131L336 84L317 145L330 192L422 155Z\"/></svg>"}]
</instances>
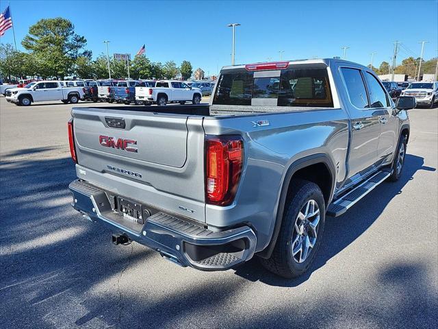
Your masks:
<instances>
[{"instance_id":1,"label":"row of parked pickups in background, left of silver truck's cab","mask_svg":"<svg viewBox=\"0 0 438 329\"><path fill-rule=\"evenodd\" d=\"M22 88L8 88L6 100L21 106L36 101L60 100L64 103L107 101L165 106L167 103L191 101L201 103L203 95L211 95L209 82L181 82L177 80L72 80L34 81Z\"/></svg>"}]
</instances>

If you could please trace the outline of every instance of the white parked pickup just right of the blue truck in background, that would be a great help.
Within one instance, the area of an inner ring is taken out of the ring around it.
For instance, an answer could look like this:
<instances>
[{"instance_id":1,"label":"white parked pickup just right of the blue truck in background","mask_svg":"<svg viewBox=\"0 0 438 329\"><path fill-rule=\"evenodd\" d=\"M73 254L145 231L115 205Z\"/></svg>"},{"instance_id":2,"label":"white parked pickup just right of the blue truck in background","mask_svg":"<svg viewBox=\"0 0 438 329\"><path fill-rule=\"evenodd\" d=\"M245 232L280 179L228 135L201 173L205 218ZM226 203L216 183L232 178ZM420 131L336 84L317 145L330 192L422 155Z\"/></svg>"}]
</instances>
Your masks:
<instances>
[{"instance_id":1,"label":"white parked pickup just right of the blue truck in background","mask_svg":"<svg viewBox=\"0 0 438 329\"><path fill-rule=\"evenodd\" d=\"M166 103L184 104L186 101L198 104L201 103L201 97L200 88L192 88L176 80L159 80L155 87L136 87L136 101L143 101L144 105L156 103L165 106Z\"/></svg>"}]
</instances>

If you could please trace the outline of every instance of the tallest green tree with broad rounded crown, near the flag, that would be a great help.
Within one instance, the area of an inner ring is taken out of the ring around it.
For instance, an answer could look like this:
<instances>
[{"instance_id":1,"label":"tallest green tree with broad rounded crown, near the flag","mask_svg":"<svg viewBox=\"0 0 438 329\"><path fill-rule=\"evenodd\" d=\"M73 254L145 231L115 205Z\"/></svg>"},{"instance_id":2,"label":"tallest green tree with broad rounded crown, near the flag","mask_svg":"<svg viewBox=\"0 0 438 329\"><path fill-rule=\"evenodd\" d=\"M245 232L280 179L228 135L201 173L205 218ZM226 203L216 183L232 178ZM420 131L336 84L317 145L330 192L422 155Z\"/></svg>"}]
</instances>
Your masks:
<instances>
[{"instance_id":1,"label":"tallest green tree with broad rounded crown, near the flag","mask_svg":"<svg viewBox=\"0 0 438 329\"><path fill-rule=\"evenodd\" d=\"M84 49L86 38L75 34L75 26L68 19L41 19L29 27L29 34L21 45L40 62L44 77L64 77L74 69L79 56L91 57Z\"/></svg>"}]
</instances>

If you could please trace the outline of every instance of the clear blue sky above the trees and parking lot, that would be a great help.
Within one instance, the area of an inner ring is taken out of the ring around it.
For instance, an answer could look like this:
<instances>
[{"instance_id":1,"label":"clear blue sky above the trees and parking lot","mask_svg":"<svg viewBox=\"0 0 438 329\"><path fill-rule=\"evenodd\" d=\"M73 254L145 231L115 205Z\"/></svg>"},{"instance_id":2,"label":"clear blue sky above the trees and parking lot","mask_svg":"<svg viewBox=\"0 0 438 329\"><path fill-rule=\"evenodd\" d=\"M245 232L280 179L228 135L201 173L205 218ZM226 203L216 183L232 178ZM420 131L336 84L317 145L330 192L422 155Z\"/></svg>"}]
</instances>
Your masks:
<instances>
[{"instance_id":1,"label":"clear blue sky above the trees and parking lot","mask_svg":"<svg viewBox=\"0 0 438 329\"><path fill-rule=\"evenodd\" d=\"M6 1L1 1L4 10ZM88 40L93 56L105 51L135 54L146 44L154 62L190 60L214 74L231 62L231 28L236 29L236 63L342 56L369 64L389 62L394 41L398 58L437 56L437 1L10 1L18 48L29 26L62 16ZM1 42L13 43L12 29ZM398 61L400 62L400 61Z\"/></svg>"}]
</instances>

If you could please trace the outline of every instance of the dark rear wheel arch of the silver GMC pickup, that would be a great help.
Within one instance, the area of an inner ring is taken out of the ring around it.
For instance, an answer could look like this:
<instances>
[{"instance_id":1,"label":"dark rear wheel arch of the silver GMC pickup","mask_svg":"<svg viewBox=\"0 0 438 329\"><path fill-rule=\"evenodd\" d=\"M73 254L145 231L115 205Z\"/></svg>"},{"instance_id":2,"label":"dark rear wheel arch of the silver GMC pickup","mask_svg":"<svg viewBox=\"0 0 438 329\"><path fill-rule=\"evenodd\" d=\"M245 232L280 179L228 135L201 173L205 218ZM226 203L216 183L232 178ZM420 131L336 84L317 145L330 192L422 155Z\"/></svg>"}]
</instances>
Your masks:
<instances>
[{"instance_id":1,"label":"dark rear wheel arch of the silver GMC pickup","mask_svg":"<svg viewBox=\"0 0 438 329\"><path fill-rule=\"evenodd\" d=\"M283 214L287 200L292 195L291 182L294 178L303 180L309 180L315 182L320 186L324 200L326 202L326 208L329 206L336 186L335 166L326 154L313 154L311 156L305 156L294 161L285 173L283 185L281 186L281 193L276 210L274 230L270 243L261 252L257 253L261 258L270 258L272 251L274 250L276 240L279 236L281 223L283 222Z\"/></svg>"}]
</instances>

